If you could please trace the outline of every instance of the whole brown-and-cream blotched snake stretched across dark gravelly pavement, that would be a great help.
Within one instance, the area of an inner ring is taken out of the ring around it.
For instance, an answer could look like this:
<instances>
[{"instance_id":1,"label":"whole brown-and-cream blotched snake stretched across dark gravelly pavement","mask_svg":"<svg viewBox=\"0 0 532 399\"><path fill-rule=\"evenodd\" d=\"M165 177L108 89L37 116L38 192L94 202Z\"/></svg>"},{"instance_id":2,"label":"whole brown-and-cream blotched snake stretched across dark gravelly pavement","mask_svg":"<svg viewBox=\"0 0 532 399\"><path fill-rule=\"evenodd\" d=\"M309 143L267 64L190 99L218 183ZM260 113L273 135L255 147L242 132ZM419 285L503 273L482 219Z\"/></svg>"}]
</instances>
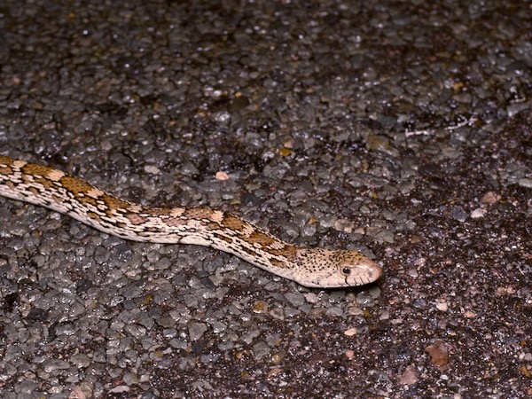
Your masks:
<instances>
[{"instance_id":1,"label":"whole brown-and-cream blotched snake stretched across dark gravelly pavement","mask_svg":"<svg viewBox=\"0 0 532 399\"><path fill-rule=\"evenodd\" d=\"M121 239L212 246L302 286L361 286L382 273L358 251L293 246L207 207L144 207L58 169L1 155L0 195L49 207Z\"/></svg>"}]
</instances>

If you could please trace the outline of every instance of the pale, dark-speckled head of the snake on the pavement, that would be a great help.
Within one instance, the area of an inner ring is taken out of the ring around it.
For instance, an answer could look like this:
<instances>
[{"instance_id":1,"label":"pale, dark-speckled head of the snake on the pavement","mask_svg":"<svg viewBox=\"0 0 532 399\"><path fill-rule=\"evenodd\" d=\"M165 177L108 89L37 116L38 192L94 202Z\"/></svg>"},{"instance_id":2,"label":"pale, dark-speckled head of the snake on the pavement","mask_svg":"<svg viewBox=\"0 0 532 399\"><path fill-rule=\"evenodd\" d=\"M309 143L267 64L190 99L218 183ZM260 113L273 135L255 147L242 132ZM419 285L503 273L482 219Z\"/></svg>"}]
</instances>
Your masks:
<instances>
[{"instance_id":1,"label":"pale, dark-speckled head of the snake on the pavement","mask_svg":"<svg viewBox=\"0 0 532 399\"><path fill-rule=\"evenodd\" d=\"M298 271L293 280L301 286L334 288L364 286L377 280L382 268L358 251L298 249Z\"/></svg>"}]
</instances>

